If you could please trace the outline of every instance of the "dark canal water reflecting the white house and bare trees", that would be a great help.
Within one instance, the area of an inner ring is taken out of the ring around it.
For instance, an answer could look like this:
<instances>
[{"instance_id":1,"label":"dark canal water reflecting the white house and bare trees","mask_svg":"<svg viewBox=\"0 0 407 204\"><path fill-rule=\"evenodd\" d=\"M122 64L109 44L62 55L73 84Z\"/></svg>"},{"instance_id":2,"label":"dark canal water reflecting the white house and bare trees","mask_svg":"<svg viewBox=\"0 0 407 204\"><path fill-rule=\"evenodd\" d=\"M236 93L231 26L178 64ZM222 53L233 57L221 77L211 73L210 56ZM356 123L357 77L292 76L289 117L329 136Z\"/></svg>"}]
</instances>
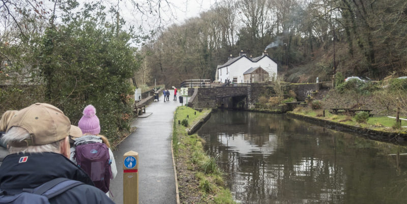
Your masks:
<instances>
[{"instance_id":1,"label":"dark canal water reflecting the white house and bare trees","mask_svg":"<svg viewBox=\"0 0 407 204\"><path fill-rule=\"evenodd\" d=\"M404 145L283 114L218 110L197 132L241 203L407 203Z\"/></svg>"}]
</instances>

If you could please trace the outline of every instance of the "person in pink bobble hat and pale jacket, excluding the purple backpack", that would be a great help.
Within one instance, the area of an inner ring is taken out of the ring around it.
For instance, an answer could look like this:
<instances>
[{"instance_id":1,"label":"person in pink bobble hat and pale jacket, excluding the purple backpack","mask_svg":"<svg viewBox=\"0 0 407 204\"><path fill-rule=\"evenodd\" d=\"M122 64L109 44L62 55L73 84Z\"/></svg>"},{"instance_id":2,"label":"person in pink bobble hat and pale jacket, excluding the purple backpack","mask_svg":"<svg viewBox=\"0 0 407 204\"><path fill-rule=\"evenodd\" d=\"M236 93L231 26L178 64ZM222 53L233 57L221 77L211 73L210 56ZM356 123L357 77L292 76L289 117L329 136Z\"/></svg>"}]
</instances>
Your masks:
<instances>
[{"instance_id":1,"label":"person in pink bobble hat and pale jacket, excluding the purple backpack","mask_svg":"<svg viewBox=\"0 0 407 204\"><path fill-rule=\"evenodd\" d=\"M104 143L105 147L108 149L109 152L109 158L108 158L108 163L110 163L110 169L94 169L92 168L92 173L88 172L90 175L92 175L94 172L106 172L104 175L109 175L110 174L110 179L114 179L118 173L118 170L116 168L116 163L114 161L114 156L113 153L110 150L110 143L109 140L103 136L100 135L100 124L99 124L99 118L96 116L96 108L93 105L88 105L83 109L83 116L78 122L78 127L82 131L83 136L80 137L73 137L75 138L75 142L73 147L71 148L71 155L70 155L70 160L74 162L75 164L78 164L77 162L77 147L79 145L84 145L84 144L91 144L91 143ZM106 152L107 153L107 152ZM80 153L82 154L82 153ZM86 154L84 154L86 155ZM83 162L85 163L85 162ZM93 165L93 163L92 163ZM109 172L107 172L109 171ZM107 179L107 178L106 178ZM94 181L95 184L98 184L100 181ZM107 196L109 196L109 184L110 181L103 181L103 184L98 184L96 185L97 187L100 186L100 190L104 191Z\"/></svg>"}]
</instances>

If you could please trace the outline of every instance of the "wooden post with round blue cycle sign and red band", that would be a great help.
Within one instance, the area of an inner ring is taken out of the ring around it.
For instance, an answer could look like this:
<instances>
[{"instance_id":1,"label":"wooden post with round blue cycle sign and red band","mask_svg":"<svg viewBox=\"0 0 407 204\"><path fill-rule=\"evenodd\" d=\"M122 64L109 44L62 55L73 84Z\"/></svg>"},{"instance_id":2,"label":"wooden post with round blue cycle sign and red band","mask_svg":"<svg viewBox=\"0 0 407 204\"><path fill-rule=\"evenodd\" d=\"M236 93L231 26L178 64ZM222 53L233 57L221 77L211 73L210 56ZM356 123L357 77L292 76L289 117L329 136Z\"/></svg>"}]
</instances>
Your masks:
<instances>
[{"instance_id":1,"label":"wooden post with round blue cycle sign and red band","mask_svg":"<svg viewBox=\"0 0 407 204\"><path fill-rule=\"evenodd\" d=\"M138 153L123 155L123 203L138 204Z\"/></svg>"}]
</instances>

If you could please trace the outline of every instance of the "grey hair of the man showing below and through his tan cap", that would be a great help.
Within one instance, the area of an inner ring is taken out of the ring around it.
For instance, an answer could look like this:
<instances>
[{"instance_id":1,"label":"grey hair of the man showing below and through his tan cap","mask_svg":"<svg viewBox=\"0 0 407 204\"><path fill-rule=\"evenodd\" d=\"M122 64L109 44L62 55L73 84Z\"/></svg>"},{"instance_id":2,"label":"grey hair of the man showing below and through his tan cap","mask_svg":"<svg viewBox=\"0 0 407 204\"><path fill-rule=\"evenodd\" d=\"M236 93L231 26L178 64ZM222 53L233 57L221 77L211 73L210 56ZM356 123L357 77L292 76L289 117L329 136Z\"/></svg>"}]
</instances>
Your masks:
<instances>
[{"instance_id":1,"label":"grey hair of the man showing below and through his tan cap","mask_svg":"<svg viewBox=\"0 0 407 204\"><path fill-rule=\"evenodd\" d=\"M12 127L6 134L3 135L2 140L5 143L20 142L24 139L30 139L30 133L20 127ZM42 152L54 152L61 153L60 148L64 139L56 142L52 142L44 145L33 145L28 147L9 147L9 154L19 153L42 153Z\"/></svg>"}]
</instances>

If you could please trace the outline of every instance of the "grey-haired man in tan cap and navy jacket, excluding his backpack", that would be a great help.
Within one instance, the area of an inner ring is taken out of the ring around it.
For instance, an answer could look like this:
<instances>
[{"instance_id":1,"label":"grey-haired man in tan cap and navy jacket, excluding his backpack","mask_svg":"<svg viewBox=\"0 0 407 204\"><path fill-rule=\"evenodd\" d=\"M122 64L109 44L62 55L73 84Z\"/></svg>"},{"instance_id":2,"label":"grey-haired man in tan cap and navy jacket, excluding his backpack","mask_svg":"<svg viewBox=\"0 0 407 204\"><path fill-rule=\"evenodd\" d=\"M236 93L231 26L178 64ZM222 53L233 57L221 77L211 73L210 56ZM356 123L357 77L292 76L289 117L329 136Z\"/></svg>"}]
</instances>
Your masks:
<instances>
[{"instance_id":1,"label":"grey-haired man in tan cap and navy jacket, excluding his backpack","mask_svg":"<svg viewBox=\"0 0 407 204\"><path fill-rule=\"evenodd\" d=\"M9 155L0 166L0 189L13 195L66 178L84 185L49 198L50 203L114 203L68 159L70 137L80 135L80 129L71 126L67 116L55 106L36 103L18 111L2 137L9 145Z\"/></svg>"}]
</instances>

